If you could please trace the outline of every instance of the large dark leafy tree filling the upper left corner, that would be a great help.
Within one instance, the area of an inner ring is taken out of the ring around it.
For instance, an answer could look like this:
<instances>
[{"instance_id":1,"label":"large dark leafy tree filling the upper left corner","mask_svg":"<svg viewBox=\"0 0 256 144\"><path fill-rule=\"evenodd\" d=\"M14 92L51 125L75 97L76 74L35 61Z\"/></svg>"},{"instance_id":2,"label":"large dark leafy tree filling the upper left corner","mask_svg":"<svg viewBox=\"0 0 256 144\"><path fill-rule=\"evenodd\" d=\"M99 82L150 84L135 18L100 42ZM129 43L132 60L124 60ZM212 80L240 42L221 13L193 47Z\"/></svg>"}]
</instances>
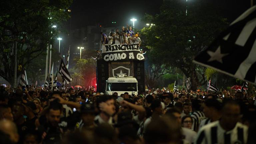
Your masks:
<instances>
[{"instance_id":1,"label":"large dark leafy tree filling the upper left corner","mask_svg":"<svg viewBox=\"0 0 256 144\"><path fill-rule=\"evenodd\" d=\"M69 18L72 0L2 0L0 2L0 76L14 80L14 43L17 42L17 77L40 56ZM52 28L57 25L56 29Z\"/></svg>"}]
</instances>

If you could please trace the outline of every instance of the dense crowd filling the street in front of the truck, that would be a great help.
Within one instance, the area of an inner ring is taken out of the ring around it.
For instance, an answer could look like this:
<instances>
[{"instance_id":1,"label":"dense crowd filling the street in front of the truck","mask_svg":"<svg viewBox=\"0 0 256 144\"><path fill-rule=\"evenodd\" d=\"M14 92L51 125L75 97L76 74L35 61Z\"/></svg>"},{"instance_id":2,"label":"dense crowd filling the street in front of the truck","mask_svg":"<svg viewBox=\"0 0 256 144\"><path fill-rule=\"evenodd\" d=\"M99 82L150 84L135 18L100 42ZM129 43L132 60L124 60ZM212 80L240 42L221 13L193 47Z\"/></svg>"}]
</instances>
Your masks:
<instances>
[{"instance_id":1,"label":"dense crowd filling the street in front of the truck","mask_svg":"<svg viewBox=\"0 0 256 144\"><path fill-rule=\"evenodd\" d=\"M256 143L254 98L236 92L0 87L1 144Z\"/></svg>"}]
</instances>

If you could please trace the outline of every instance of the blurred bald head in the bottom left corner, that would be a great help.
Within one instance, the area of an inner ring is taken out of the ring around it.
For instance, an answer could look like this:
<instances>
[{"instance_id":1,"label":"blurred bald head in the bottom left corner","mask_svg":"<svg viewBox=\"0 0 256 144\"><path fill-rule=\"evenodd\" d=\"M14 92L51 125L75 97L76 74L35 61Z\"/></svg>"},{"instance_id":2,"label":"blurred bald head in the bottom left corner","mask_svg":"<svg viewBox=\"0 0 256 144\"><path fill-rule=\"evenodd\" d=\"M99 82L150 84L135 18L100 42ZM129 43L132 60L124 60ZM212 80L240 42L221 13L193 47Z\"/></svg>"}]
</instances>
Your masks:
<instances>
[{"instance_id":1,"label":"blurred bald head in the bottom left corner","mask_svg":"<svg viewBox=\"0 0 256 144\"><path fill-rule=\"evenodd\" d=\"M0 120L0 131L8 134L14 143L19 141L19 134L16 125L7 119Z\"/></svg>"}]
</instances>

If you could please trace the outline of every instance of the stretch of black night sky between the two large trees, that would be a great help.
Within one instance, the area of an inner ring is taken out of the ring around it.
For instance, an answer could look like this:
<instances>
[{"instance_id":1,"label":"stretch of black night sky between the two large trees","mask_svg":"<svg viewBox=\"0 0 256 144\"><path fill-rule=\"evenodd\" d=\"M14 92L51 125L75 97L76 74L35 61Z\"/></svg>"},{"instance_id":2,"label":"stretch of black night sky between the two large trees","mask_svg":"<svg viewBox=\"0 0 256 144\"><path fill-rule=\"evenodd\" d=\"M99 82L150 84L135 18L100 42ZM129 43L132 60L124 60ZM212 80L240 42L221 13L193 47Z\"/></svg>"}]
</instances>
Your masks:
<instances>
[{"instance_id":1,"label":"stretch of black night sky between the two large trees","mask_svg":"<svg viewBox=\"0 0 256 144\"><path fill-rule=\"evenodd\" d=\"M132 24L130 19L141 19L145 13L156 14L162 0L74 0L71 9L72 29L101 24L104 27ZM116 21L116 24L112 24ZM140 22L136 21L138 26Z\"/></svg>"}]
</instances>

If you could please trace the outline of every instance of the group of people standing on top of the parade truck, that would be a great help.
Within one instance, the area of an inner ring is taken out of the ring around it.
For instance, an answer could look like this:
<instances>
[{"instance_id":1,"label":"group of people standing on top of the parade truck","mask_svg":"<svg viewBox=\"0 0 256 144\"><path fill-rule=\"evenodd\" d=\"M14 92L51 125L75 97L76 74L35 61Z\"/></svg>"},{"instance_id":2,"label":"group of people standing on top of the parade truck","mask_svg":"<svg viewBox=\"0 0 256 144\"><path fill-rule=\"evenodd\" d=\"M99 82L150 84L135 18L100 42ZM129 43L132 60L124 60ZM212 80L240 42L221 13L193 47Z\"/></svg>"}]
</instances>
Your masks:
<instances>
[{"instance_id":1,"label":"group of people standing on top of the parade truck","mask_svg":"<svg viewBox=\"0 0 256 144\"><path fill-rule=\"evenodd\" d=\"M113 45L113 44L141 44L141 40L139 38L139 33L134 33L132 30L132 27L127 27L125 28L124 26L119 29L116 29L115 32L110 32L109 36L107 36L105 33L101 32L102 35L102 44L108 44L108 45Z\"/></svg>"}]
</instances>

